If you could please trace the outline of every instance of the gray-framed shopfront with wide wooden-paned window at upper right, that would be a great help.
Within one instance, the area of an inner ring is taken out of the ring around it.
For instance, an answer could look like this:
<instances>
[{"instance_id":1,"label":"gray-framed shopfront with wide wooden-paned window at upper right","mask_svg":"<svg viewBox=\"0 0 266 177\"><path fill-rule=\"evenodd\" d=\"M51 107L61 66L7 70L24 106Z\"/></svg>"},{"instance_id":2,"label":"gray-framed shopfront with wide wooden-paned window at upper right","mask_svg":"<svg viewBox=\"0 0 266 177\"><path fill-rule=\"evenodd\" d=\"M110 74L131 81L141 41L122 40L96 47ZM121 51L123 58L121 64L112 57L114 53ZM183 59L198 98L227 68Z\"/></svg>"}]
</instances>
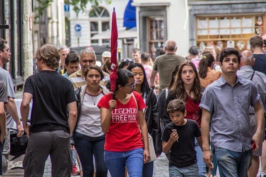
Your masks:
<instances>
[{"instance_id":1,"label":"gray-framed shopfront with wide wooden-paned window at upper right","mask_svg":"<svg viewBox=\"0 0 266 177\"><path fill-rule=\"evenodd\" d=\"M189 44L249 50L249 39L265 33L265 0L189 1Z\"/></svg>"}]
</instances>

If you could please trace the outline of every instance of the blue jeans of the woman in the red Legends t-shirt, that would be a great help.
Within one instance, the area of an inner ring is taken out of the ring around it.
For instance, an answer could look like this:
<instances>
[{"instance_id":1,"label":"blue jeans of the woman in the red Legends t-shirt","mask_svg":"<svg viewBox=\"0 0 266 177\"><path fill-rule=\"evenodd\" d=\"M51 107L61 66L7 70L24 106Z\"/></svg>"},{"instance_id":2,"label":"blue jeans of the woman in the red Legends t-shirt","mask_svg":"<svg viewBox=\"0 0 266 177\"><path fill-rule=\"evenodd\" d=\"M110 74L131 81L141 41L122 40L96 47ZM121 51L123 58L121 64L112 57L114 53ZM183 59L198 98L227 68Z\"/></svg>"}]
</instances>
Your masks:
<instances>
[{"instance_id":1,"label":"blue jeans of the woman in the red Legends t-shirt","mask_svg":"<svg viewBox=\"0 0 266 177\"><path fill-rule=\"evenodd\" d=\"M104 151L104 161L112 177L125 177L125 167L129 177L141 177L143 148L125 152Z\"/></svg>"}]
</instances>

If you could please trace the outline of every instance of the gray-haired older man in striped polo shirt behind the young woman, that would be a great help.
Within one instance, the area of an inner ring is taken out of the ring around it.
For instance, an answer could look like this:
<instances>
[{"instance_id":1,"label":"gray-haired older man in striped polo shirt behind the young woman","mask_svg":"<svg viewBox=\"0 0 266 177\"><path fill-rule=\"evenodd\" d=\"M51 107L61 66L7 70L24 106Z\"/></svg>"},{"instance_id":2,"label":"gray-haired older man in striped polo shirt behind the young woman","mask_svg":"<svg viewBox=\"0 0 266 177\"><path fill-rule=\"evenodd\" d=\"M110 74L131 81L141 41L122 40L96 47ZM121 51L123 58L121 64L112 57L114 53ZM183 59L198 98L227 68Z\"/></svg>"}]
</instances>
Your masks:
<instances>
[{"instance_id":1,"label":"gray-haired older man in striped polo shirt behind the young woman","mask_svg":"<svg viewBox=\"0 0 266 177\"><path fill-rule=\"evenodd\" d=\"M85 80L84 77L84 72L86 67L88 67L89 65L96 64L96 55L94 50L82 49L79 55L79 63L81 68L77 72L74 72L72 75L68 76L68 79L72 82L74 89L77 89L78 87L87 84L87 81ZM104 79L100 81L100 85L105 86L106 85L105 81L110 80L109 77L110 75L107 74L106 72L103 73L104 73Z\"/></svg>"}]
</instances>

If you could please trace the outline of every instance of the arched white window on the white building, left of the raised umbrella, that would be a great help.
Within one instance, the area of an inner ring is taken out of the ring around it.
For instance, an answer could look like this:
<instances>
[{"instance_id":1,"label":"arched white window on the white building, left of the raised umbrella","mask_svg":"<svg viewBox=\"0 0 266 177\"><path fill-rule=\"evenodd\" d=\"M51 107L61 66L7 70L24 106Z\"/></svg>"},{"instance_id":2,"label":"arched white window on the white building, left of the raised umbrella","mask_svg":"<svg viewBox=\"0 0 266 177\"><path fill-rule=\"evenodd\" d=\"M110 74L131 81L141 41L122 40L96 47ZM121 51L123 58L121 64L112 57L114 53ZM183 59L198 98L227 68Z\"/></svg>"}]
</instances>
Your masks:
<instances>
[{"instance_id":1,"label":"arched white window on the white building, left of the raised umbrella","mask_svg":"<svg viewBox=\"0 0 266 177\"><path fill-rule=\"evenodd\" d=\"M110 15L105 8L97 7L90 11L90 34L93 37L104 31L110 30ZM109 45L107 39L93 39L91 45Z\"/></svg>"}]
</instances>

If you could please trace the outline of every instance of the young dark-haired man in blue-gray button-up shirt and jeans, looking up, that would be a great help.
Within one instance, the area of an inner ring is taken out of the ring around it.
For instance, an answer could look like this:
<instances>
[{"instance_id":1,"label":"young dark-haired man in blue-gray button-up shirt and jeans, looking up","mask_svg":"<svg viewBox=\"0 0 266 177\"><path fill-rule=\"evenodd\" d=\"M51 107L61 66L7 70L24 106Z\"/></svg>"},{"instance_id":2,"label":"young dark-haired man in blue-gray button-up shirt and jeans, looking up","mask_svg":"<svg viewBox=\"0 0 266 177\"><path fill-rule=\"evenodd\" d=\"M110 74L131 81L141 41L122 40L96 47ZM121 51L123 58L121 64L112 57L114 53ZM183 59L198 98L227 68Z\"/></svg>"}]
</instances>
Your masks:
<instances>
[{"instance_id":1,"label":"young dark-haired man in blue-gray button-up shirt and jeans, looking up","mask_svg":"<svg viewBox=\"0 0 266 177\"><path fill-rule=\"evenodd\" d=\"M221 177L247 176L252 162L252 143L259 148L263 132L264 113L256 86L237 77L241 54L233 48L220 53L222 76L210 84L201 98L201 134L203 159L210 167L211 144L214 146ZM249 106L255 111L256 133L252 134Z\"/></svg>"}]
</instances>

